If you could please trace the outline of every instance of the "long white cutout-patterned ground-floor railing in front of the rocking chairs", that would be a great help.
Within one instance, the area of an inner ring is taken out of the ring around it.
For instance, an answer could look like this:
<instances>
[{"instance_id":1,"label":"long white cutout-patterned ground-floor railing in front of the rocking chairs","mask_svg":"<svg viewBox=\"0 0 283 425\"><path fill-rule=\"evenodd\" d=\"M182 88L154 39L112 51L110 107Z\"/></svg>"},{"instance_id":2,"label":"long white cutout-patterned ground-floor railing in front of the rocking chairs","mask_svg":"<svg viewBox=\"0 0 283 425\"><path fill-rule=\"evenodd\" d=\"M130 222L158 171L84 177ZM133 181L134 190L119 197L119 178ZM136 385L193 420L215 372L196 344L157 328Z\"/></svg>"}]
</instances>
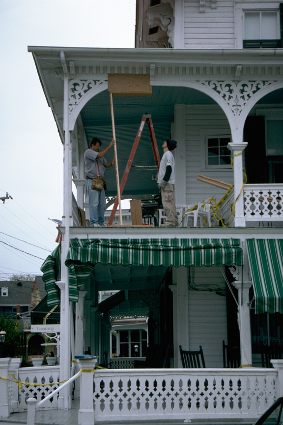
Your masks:
<instances>
[{"instance_id":1,"label":"long white cutout-patterned ground-floor railing in front of the rocking chairs","mask_svg":"<svg viewBox=\"0 0 283 425\"><path fill-rule=\"evenodd\" d=\"M276 399L273 369L95 371L95 421L252 419Z\"/></svg>"}]
</instances>

